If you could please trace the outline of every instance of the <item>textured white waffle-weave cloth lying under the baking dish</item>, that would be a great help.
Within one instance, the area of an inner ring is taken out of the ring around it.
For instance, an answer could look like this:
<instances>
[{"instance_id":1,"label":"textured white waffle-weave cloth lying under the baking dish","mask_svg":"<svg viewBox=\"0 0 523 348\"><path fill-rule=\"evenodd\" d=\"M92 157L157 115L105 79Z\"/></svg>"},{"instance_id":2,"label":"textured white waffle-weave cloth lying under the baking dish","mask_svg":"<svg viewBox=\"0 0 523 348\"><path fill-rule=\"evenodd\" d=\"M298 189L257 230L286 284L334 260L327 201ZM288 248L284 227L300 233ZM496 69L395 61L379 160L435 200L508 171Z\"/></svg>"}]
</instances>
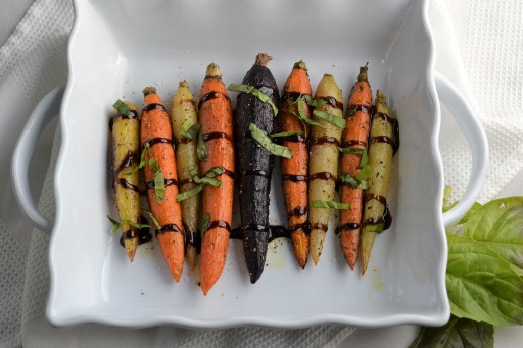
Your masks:
<instances>
[{"instance_id":1,"label":"textured white waffle-weave cloth lying under the baking dish","mask_svg":"<svg viewBox=\"0 0 523 348\"><path fill-rule=\"evenodd\" d=\"M431 1L430 23L437 47L437 69L475 102L491 146L491 164L480 200L492 198L523 167L523 3L519 0L467 0L445 6ZM30 111L65 81L66 43L73 21L68 0L37 0L0 49L0 346L335 346L351 328L319 327L281 331L240 328L190 331L171 327L120 330L96 325L55 329L42 317L48 292L49 238L33 230L15 205L8 163ZM452 19L454 19L452 17ZM454 29L459 32L454 37ZM470 85L469 82L470 81ZM54 215L52 175L59 134L44 134L32 164L31 182L49 170L40 211ZM451 117L442 116L440 149L446 183L461 194L470 174L470 151ZM38 197L39 193L35 193ZM32 233L31 233L32 232ZM30 241L30 242L29 242ZM22 334L21 334L22 333ZM38 335L40 334L40 336ZM45 340L40 340L45 337Z\"/></svg>"}]
</instances>

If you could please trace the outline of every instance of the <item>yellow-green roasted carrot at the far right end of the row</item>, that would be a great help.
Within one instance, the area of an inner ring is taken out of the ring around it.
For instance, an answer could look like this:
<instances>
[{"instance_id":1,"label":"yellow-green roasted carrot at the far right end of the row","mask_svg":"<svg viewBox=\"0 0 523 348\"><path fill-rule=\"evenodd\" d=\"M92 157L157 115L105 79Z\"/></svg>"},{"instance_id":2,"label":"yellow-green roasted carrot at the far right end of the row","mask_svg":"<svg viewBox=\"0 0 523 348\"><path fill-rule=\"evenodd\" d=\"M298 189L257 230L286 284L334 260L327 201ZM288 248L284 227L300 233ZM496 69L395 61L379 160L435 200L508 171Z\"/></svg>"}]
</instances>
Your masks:
<instances>
[{"instance_id":1,"label":"yellow-green roasted carrot at the far right end of the row","mask_svg":"<svg viewBox=\"0 0 523 348\"><path fill-rule=\"evenodd\" d=\"M396 130L396 131L395 131ZM389 228L392 218L387 207L387 195L392 166L392 156L399 146L397 121L392 118L385 95L376 93L376 107L372 115L369 137L369 165L372 167L372 185L366 192L363 230L361 231L362 274L369 266L370 253L376 235Z\"/></svg>"}]
</instances>

